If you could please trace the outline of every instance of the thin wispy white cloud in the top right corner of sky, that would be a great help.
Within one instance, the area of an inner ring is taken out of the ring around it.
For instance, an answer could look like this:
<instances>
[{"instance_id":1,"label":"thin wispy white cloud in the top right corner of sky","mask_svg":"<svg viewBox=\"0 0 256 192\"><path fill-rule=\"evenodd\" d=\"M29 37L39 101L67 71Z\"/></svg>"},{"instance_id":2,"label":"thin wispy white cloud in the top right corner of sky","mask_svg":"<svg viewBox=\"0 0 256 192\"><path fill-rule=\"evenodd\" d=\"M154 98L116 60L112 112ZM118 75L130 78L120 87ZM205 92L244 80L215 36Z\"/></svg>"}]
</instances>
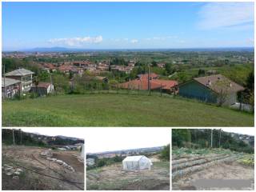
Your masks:
<instances>
[{"instance_id":1,"label":"thin wispy white cloud in the top right corner of sky","mask_svg":"<svg viewBox=\"0 0 256 192\"><path fill-rule=\"evenodd\" d=\"M202 6L198 16L198 27L203 30L221 27L248 29L254 26L254 3L210 2Z\"/></svg>"}]
</instances>

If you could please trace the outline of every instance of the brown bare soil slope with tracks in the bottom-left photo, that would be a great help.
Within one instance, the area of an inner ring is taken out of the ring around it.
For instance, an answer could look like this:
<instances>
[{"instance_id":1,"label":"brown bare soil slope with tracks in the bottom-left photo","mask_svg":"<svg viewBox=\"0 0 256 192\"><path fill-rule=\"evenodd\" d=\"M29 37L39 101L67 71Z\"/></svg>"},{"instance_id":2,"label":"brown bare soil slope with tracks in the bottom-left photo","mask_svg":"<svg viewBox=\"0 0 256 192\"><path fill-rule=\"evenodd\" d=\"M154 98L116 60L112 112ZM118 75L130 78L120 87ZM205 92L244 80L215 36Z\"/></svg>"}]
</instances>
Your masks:
<instances>
[{"instance_id":1,"label":"brown bare soil slope with tracks in the bottom-left photo","mask_svg":"<svg viewBox=\"0 0 256 192\"><path fill-rule=\"evenodd\" d=\"M40 153L44 150L47 149L34 146L2 146L2 165L7 164L23 170L18 179L2 172L2 190L83 190L84 167L72 155L79 155L78 151L53 150L55 157L74 167L75 171L72 172L56 162L42 158Z\"/></svg>"}]
</instances>

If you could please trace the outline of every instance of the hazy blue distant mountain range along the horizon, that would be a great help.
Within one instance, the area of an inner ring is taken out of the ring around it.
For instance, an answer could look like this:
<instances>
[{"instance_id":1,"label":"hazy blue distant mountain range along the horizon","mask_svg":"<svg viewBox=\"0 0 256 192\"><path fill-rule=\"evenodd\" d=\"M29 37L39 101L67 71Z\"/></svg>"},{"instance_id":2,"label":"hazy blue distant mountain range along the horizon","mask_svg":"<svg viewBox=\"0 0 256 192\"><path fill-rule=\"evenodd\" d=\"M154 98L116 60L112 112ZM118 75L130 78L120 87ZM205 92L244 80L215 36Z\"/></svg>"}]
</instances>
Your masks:
<instances>
[{"instance_id":1,"label":"hazy blue distant mountain range along the horizon","mask_svg":"<svg viewBox=\"0 0 256 192\"><path fill-rule=\"evenodd\" d=\"M254 47L178 48L178 49L79 49L70 47L36 47L18 52L94 52L94 51L254 51ZM6 52L6 51L4 51ZM8 51L14 52L14 51Z\"/></svg>"}]
</instances>

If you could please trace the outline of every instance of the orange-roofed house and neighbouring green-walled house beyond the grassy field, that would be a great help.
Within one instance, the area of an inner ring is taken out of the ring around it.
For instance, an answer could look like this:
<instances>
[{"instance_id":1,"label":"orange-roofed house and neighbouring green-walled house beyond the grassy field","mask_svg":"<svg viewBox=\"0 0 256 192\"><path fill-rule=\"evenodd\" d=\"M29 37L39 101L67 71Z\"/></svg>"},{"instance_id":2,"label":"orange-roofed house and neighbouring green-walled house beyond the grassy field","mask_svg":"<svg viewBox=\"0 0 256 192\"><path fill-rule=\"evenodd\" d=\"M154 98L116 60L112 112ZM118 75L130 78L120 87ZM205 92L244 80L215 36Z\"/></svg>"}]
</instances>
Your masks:
<instances>
[{"instance_id":1,"label":"orange-roofed house and neighbouring green-walled house beyond the grassy field","mask_svg":"<svg viewBox=\"0 0 256 192\"><path fill-rule=\"evenodd\" d=\"M169 94L178 94L185 98L195 98L203 102L222 103L231 106L237 102L238 92L244 87L226 78L222 74L193 78L189 82L178 84L173 80L159 79L158 74L139 74L138 78L119 85L123 89L159 90Z\"/></svg>"}]
</instances>

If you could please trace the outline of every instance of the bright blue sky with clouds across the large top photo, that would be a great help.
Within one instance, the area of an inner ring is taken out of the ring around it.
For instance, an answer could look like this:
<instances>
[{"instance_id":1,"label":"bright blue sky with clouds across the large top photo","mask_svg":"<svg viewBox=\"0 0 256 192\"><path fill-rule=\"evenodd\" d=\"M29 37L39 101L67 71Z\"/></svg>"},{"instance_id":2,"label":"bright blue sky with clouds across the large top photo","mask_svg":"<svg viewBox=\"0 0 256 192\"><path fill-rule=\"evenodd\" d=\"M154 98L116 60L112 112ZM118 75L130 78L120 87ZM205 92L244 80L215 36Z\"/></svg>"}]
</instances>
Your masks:
<instances>
[{"instance_id":1,"label":"bright blue sky with clouds across the large top photo","mask_svg":"<svg viewBox=\"0 0 256 192\"><path fill-rule=\"evenodd\" d=\"M253 2L2 2L2 50L254 46Z\"/></svg>"}]
</instances>

